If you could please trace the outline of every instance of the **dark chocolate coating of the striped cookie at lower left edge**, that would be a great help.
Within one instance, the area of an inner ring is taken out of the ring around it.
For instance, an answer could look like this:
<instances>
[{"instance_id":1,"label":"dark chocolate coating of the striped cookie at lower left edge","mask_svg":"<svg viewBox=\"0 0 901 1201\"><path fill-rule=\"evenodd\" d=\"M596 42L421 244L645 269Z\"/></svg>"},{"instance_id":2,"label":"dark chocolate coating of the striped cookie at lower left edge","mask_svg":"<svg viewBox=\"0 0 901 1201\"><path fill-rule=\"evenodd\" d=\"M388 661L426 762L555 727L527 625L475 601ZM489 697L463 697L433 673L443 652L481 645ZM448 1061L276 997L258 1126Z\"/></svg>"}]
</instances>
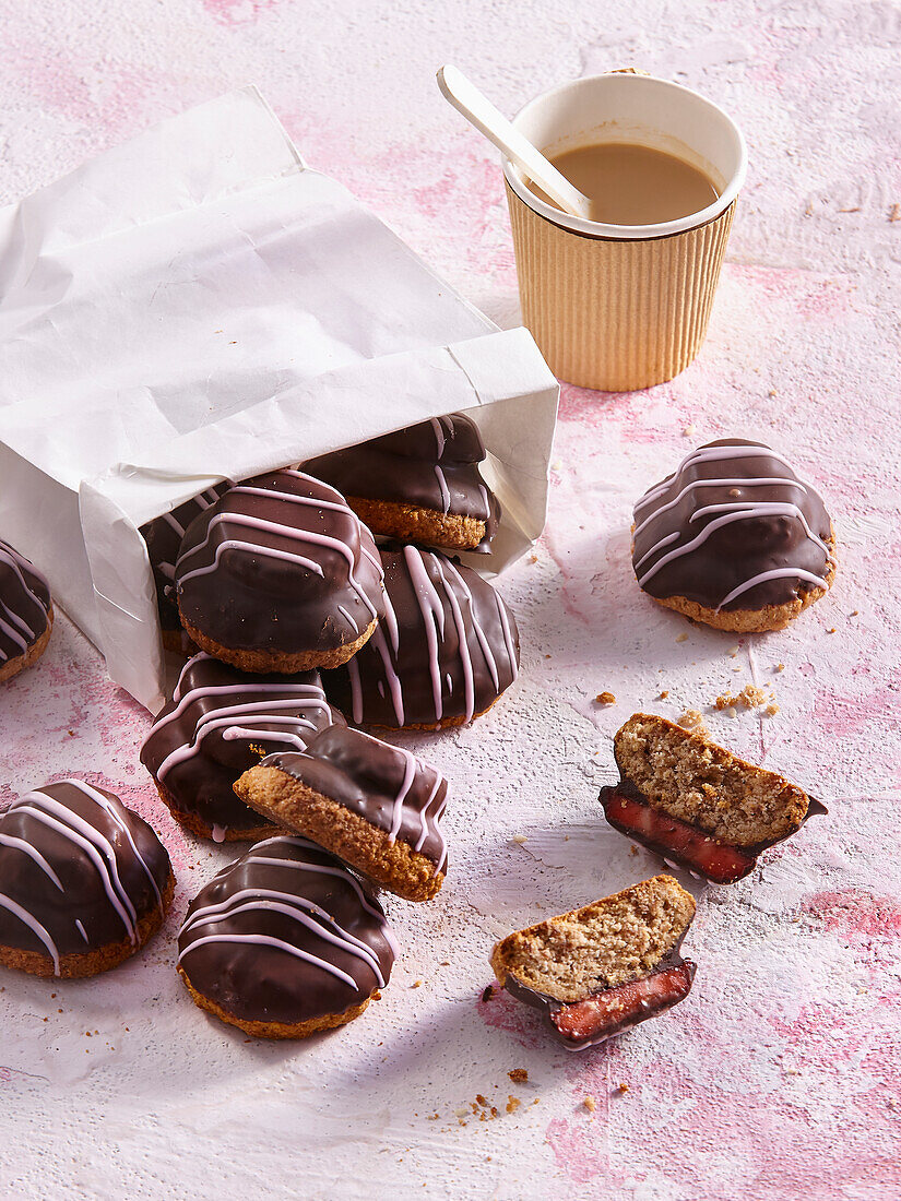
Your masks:
<instances>
[{"instance_id":1,"label":"dark chocolate coating of the striped cookie at lower left edge","mask_svg":"<svg viewBox=\"0 0 901 1201\"><path fill-rule=\"evenodd\" d=\"M0 818L0 946L54 961L126 939L172 876L142 818L79 779L35 789Z\"/></svg>"}]
</instances>

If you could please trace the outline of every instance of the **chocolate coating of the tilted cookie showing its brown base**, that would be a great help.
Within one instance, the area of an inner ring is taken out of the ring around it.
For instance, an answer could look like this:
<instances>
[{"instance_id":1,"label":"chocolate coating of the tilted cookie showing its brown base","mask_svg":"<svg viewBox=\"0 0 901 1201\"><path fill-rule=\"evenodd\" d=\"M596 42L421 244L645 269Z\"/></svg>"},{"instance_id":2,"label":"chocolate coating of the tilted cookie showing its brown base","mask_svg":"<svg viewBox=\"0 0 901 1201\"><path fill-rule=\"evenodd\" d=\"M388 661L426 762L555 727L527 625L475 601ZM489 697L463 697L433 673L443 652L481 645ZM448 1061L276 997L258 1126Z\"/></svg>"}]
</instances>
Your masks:
<instances>
[{"instance_id":1,"label":"chocolate coating of the tilted cookie showing its brown base","mask_svg":"<svg viewBox=\"0 0 901 1201\"><path fill-rule=\"evenodd\" d=\"M446 871L447 843L438 820L447 803L447 781L408 751L334 725L318 734L305 754L270 754L263 766L287 772Z\"/></svg>"}]
</instances>

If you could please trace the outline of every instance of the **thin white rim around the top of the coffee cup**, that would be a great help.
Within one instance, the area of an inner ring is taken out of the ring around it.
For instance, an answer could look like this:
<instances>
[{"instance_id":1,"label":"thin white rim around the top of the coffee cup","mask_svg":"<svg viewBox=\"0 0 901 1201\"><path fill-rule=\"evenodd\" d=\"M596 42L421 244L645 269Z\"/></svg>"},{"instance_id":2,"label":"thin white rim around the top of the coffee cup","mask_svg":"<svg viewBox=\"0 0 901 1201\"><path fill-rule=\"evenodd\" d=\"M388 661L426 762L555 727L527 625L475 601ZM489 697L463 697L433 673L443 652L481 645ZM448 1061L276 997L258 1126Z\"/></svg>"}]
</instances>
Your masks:
<instances>
[{"instance_id":1,"label":"thin white rim around the top of the coffee cup","mask_svg":"<svg viewBox=\"0 0 901 1201\"><path fill-rule=\"evenodd\" d=\"M611 76L617 76L620 79L634 79L637 83L640 82L645 85L648 83L662 84L664 88L672 88L675 91L687 92L690 96L693 96L696 100L706 104L710 109L717 113L727 123L727 125L729 125L738 138L739 165L716 201L714 201L712 204L709 204L705 209L700 209L698 213L690 213L687 216L679 217L675 221L663 221L658 225L620 226L608 225L603 221L589 221L587 217L575 217L571 216L568 213L561 213L560 209L555 208L553 204L548 204L547 201L542 201L541 197L536 196L530 187L526 187L519 168L505 156L503 174L509 186L524 204L527 204L530 209L539 216L543 216L547 221L550 221L553 225L561 226L565 229L572 229L575 233L586 234L593 238L609 238L616 241L646 241L651 238L669 238L673 234L685 233L687 229L697 229L700 226L708 225L710 221L715 221L718 216L726 213L741 191L745 183L745 175L747 174L747 145L741 130L729 116L726 109L714 103L712 100L708 100L706 96L702 96L702 94L694 91L693 88L686 88L684 84L673 83L672 79L661 79L657 76L649 74L607 72L599 76L580 76L578 79L571 79L568 83L559 84L556 88L550 88L548 91L543 91L541 95L533 96L519 109L517 115L513 118L513 124L518 126L519 121L524 116L529 115L530 109L545 102L553 96L559 96L562 92L569 91L573 86L583 84L587 80L607 79Z\"/></svg>"}]
</instances>

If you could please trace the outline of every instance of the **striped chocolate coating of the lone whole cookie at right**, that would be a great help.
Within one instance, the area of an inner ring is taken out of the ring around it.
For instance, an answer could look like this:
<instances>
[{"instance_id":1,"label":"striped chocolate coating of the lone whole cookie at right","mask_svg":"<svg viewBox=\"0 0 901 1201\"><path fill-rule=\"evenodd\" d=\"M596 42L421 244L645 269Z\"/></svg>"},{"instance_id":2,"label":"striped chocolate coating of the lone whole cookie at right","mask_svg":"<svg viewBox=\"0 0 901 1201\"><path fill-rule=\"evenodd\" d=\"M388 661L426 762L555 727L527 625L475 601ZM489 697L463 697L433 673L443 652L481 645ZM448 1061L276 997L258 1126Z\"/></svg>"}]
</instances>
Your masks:
<instances>
[{"instance_id":1,"label":"striped chocolate coating of the lone whole cookie at right","mask_svg":"<svg viewBox=\"0 0 901 1201\"><path fill-rule=\"evenodd\" d=\"M636 506L632 563L657 599L759 610L827 588L823 501L769 447L722 438L692 452Z\"/></svg>"}]
</instances>

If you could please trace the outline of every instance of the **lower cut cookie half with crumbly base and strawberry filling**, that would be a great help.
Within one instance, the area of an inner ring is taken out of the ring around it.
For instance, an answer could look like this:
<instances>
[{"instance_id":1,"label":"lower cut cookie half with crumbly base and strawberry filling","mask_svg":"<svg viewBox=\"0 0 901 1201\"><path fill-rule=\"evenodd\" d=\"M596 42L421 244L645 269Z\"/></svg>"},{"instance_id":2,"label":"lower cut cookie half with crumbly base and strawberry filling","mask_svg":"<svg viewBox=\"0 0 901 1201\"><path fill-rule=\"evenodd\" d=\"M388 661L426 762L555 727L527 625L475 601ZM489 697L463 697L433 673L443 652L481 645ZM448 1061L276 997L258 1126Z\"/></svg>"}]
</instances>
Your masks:
<instances>
[{"instance_id":1,"label":"lower cut cookie half with crumbly base and strawberry filling","mask_svg":"<svg viewBox=\"0 0 901 1201\"><path fill-rule=\"evenodd\" d=\"M679 948L693 918L691 894L672 876L655 876L508 934L491 968L563 1046L581 1051L688 996L694 963Z\"/></svg>"}]
</instances>

